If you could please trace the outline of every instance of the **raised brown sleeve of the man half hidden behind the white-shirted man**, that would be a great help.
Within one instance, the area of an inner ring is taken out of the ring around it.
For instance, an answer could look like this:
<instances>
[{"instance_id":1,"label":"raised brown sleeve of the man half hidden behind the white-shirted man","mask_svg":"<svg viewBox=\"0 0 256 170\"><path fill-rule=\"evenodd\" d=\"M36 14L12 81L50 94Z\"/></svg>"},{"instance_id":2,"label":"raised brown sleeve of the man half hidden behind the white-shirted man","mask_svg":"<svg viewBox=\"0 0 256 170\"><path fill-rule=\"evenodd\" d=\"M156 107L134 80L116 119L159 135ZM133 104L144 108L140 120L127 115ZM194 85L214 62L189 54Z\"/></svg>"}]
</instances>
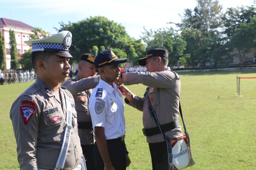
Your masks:
<instances>
[{"instance_id":1,"label":"raised brown sleeve of the man half hidden behind the white-shirted man","mask_svg":"<svg viewBox=\"0 0 256 170\"><path fill-rule=\"evenodd\" d=\"M80 79L79 81L67 80L64 81L61 86L64 86L70 91L72 95L83 92L85 90L94 89L100 80L100 76L93 76Z\"/></svg>"}]
</instances>

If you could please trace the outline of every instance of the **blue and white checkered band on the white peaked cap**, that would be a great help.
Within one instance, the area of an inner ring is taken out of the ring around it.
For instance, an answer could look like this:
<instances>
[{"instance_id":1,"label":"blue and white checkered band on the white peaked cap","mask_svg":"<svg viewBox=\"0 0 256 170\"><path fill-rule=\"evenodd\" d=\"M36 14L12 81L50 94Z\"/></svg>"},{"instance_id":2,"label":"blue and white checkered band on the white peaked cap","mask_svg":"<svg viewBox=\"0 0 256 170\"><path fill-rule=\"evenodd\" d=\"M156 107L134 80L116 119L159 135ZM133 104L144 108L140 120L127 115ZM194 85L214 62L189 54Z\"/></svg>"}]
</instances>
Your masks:
<instances>
[{"instance_id":1,"label":"blue and white checkered band on the white peaked cap","mask_svg":"<svg viewBox=\"0 0 256 170\"><path fill-rule=\"evenodd\" d=\"M68 50L64 46L64 44L59 44L59 43L36 43L32 44L32 52L34 51L44 51L44 49L59 49L59 50Z\"/></svg>"}]
</instances>

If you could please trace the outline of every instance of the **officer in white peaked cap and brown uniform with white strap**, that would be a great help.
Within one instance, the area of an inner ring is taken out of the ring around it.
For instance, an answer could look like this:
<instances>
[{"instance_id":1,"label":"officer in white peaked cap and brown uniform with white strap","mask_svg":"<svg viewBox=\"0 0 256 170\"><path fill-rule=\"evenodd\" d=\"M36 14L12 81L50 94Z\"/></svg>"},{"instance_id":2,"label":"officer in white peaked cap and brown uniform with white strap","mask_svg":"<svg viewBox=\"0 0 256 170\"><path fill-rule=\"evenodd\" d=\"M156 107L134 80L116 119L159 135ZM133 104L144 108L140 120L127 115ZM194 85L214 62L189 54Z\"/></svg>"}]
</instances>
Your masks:
<instances>
[{"instance_id":1,"label":"officer in white peaked cap and brown uniform with white strap","mask_svg":"<svg viewBox=\"0 0 256 170\"><path fill-rule=\"evenodd\" d=\"M14 101L10 118L20 169L81 169L74 99L59 83L69 75L72 34L62 31L32 45L37 79Z\"/></svg>"}]
</instances>

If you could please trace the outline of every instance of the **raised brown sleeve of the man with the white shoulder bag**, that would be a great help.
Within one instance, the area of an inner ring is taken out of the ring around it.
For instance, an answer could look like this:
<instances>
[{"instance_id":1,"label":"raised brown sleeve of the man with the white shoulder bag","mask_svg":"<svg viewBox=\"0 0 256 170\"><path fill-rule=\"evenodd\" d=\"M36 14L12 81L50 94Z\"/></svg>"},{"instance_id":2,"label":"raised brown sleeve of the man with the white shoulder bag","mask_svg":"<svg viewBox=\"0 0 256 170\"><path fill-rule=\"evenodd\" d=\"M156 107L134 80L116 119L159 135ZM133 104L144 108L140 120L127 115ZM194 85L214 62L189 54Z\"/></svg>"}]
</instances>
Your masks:
<instances>
[{"instance_id":1,"label":"raised brown sleeve of the man with the white shoulder bag","mask_svg":"<svg viewBox=\"0 0 256 170\"><path fill-rule=\"evenodd\" d=\"M144 84L149 87L173 88L177 78L171 71L123 73L124 85Z\"/></svg>"}]
</instances>

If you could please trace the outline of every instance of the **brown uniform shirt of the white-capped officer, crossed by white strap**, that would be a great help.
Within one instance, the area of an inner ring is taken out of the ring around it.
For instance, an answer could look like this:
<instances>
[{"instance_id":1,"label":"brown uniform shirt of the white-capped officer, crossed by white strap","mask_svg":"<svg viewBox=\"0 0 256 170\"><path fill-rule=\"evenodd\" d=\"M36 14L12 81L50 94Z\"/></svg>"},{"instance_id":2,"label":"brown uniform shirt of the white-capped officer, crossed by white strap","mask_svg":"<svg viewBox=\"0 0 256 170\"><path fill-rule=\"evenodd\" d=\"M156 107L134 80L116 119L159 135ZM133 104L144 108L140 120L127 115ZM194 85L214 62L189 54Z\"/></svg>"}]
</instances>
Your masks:
<instances>
[{"instance_id":1,"label":"brown uniform shirt of the white-capped officer, crossed by white strap","mask_svg":"<svg viewBox=\"0 0 256 170\"><path fill-rule=\"evenodd\" d=\"M67 107L64 92L71 103L73 129L63 169L74 169L80 164L82 148L77 134L74 99L65 87L61 87L59 92L60 97L56 97L49 87L37 78L35 83L14 101L10 118L20 169L54 169L66 127Z\"/></svg>"}]
</instances>

